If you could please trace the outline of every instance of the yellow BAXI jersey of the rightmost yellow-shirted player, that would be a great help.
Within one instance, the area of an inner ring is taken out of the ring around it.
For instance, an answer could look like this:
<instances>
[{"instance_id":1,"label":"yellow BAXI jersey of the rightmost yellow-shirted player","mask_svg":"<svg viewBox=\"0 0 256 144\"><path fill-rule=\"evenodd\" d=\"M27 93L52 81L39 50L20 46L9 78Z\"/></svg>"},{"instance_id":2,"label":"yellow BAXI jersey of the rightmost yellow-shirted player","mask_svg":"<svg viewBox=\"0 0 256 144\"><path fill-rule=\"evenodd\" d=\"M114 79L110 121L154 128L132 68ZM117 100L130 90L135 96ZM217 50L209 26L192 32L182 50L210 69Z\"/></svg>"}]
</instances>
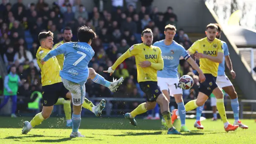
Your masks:
<instances>
[{"instance_id":1,"label":"yellow BAXI jersey of the rightmost yellow-shirted player","mask_svg":"<svg viewBox=\"0 0 256 144\"><path fill-rule=\"evenodd\" d=\"M218 52L223 53L223 47L221 40L215 38L213 42L208 42L207 37L202 38L194 42L194 44L188 49L191 53L198 53L207 54L210 56L217 56ZM208 58L200 58L200 69L204 74L212 74L213 76L217 77L218 75L218 62L213 62Z\"/></svg>"}]
</instances>

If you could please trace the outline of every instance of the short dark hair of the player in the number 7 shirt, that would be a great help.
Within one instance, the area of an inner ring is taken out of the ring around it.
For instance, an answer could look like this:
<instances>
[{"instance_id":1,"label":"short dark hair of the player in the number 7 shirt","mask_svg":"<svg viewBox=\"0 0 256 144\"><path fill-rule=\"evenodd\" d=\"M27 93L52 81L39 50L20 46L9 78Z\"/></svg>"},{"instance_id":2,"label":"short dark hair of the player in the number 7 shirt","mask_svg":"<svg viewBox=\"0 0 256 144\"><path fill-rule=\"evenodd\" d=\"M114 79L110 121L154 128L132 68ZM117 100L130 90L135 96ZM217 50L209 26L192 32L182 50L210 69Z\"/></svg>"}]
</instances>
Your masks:
<instances>
[{"instance_id":1,"label":"short dark hair of the player in the number 7 shirt","mask_svg":"<svg viewBox=\"0 0 256 144\"><path fill-rule=\"evenodd\" d=\"M96 33L89 26L79 28L77 36L79 42L89 42L97 38Z\"/></svg>"}]
</instances>

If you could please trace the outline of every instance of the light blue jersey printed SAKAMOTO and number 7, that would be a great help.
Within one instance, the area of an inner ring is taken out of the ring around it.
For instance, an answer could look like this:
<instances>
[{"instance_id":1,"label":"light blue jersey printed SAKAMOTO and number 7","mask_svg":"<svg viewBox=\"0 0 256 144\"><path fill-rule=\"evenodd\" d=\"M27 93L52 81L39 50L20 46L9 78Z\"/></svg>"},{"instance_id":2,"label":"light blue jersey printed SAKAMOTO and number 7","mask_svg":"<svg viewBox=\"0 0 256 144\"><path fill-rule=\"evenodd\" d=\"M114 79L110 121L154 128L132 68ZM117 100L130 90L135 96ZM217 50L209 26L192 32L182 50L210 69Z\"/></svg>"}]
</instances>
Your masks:
<instances>
[{"instance_id":1,"label":"light blue jersey printed SAKAMOTO and number 7","mask_svg":"<svg viewBox=\"0 0 256 144\"><path fill-rule=\"evenodd\" d=\"M66 42L51 50L44 58L47 61L52 56L64 54L65 60L60 76L71 82L84 85L88 75L88 64L95 52L86 42Z\"/></svg>"}]
</instances>

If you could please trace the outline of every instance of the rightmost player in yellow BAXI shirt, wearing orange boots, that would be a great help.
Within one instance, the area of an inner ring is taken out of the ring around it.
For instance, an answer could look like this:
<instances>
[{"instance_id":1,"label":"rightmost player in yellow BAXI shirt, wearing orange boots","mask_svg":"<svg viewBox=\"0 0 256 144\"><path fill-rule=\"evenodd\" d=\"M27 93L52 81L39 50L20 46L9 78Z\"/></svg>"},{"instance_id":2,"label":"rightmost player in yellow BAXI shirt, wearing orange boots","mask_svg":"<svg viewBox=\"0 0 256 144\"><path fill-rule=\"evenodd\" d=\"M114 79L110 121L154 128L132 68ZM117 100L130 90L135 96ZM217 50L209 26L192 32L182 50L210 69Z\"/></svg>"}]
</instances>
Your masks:
<instances>
[{"instance_id":1,"label":"rightmost player in yellow BAXI shirt, wearing orange boots","mask_svg":"<svg viewBox=\"0 0 256 144\"><path fill-rule=\"evenodd\" d=\"M185 105L186 111L194 110L198 106L202 106L211 93L216 96L216 106L220 117L224 123L226 132L236 130L239 126L232 125L228 122L224 107L222 90L216 84L218 75L218 66L223 60L223 45L221 40L216 38L218 27L215 24L206 26L206 38L202 38L194 42L187 50L188 53L195 54L196 58L200 58L200 69L204 73L206 80L200 83L199 94L196 100L191 100ZM172 120L176 120L178 110L172 111ZM198 121L200 122L200 121Z\"/></svg>"}]
</instances>

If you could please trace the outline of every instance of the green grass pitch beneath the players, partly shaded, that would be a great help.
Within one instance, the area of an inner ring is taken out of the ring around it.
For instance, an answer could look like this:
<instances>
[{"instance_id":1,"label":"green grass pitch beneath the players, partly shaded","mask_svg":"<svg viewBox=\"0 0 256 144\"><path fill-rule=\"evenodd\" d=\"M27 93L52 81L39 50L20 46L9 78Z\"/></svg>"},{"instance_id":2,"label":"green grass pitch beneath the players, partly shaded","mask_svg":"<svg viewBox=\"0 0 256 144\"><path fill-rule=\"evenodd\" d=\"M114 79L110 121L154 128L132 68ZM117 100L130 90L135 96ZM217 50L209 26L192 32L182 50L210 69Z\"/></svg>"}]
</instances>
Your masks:
<instances>
[{"instance_id":1,"label":"green grass pitch beneath the players, partly shaded","mask_svg":"<svg viewBox=\"0 0 256 144\"><path fill-rule=\"evenodd\" d=\"M80 132L86 138L69 138L71 128L65 128L63 118L50 118L22 135L22 122L29 117L0 117L0 144L255 144L256 122L243 120L248 130L238 128L235 132L225 132L221 120L202 121L204 130L193 127L194 119L187 119L191 130L183 135L167 135L160 120L137 119L133 127L124 118L82 118ZM233 122L233 120L230 120Z\"/></svg>"}]
</instances>

